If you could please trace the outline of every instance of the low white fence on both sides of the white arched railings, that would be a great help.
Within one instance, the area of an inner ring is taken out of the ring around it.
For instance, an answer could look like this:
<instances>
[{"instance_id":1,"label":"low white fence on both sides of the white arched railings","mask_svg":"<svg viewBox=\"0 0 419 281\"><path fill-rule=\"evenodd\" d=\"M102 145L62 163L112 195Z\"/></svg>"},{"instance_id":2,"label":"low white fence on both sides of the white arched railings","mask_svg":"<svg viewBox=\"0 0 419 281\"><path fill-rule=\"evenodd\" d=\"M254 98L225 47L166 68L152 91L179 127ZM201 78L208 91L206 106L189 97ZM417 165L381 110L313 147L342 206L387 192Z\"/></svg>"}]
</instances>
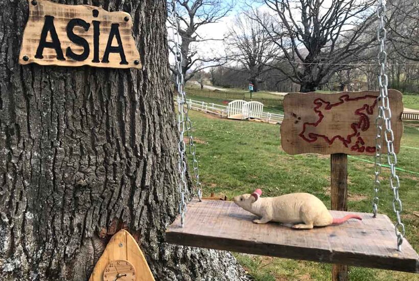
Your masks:
<instances>
[{"instance_id":1,"label":"low white fence on both sides of the white arched railings","mask_svg":"<svg viewBox=\"0 0 419 281\"><path fill-rule=\"evenodd\" d=\"M202 112L205 112L205 113L211 113L211 114L220 116L221 118L227 118L228 117L228 110L227 110L227 106L225 106L225 105L195 101L195 100L192 100L192 99L187 99L187 103L188 103L190 109L197 110L197 111L202 111ZM260 114L260 118L258 118L258 119L261 119L265 122L282 123L282 121L284 120L284 115L276 114L276 113L270 113L270 112L262 112Z\"/></svg>"}]
</instances>

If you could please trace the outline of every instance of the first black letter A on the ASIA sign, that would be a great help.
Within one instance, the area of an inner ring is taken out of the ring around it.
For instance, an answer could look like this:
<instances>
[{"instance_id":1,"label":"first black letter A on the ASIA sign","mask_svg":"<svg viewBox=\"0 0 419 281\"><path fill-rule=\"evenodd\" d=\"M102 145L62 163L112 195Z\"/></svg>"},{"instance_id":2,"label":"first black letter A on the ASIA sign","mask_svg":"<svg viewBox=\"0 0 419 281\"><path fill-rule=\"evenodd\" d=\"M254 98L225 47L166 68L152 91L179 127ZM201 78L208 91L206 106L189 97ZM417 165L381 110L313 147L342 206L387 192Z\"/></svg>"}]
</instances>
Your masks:
<instances>
[{"instance_id":1,"label":"first black letter A on the ASIA sign","mask_svg":"<svg viewBox=\"0 0 419 281\"><path fill-rule=\"evenodd\" d=\"M46 42L46 35L48 35L48 32L50 32L51 34L52 42ZM43 48L54 49L55 52L57 53L57 59L65 60L64 55L62 54L62 50L61 50L60 39L58 39L57 31L55 31L53 16L45 16L45 22L43 24L43 28L41 32L41 39L39 40L39 45L38 45L38 49L36 50L35 58L43 59L43 56L42 56Z\"/></svg>"}]
</instances>

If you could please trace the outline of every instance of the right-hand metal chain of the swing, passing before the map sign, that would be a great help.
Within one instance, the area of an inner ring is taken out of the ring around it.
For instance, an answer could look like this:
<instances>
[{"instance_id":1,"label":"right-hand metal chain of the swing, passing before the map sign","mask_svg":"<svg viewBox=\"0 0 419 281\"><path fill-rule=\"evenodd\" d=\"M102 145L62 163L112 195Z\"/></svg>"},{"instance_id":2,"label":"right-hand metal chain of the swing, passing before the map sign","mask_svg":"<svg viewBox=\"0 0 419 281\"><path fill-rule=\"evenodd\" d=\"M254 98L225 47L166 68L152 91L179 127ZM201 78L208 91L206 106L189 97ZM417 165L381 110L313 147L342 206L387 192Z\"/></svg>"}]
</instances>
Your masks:
<instances>
[{"instance_id":1,"label":"right-hand metal chain of the swing, passing before the map sign","mask_svg":"<svg viewBox=\"0 0 419 281\"><path fill-rule=\"evenodd\" d=\"M384 0L385 1L385 0ZM394 224L394 231L397 237L397 249L401 251L403 237L405 236L405 226L401 221L400 214L402 213L402 201L399 198L400 181L396 174L395 167L397 165L397 156L394 152L394 133L391 129L391 109L388 99L388 78L386 73L387 53L385 51L385 40L387 38L387 31L384 25L384 16L386 12L385 2L378 0L377 17L379 19L379 27L377 29L377 39L380 42L380 52L378 54L378 62L380 64L380 71L378 75L378 82L380 86L380 96L378 97L378 117L376 119L377 137L376 137L376 165L375 165L375 182L374 191L375 197L373 199L374 217L378 210L378 191L380 189L379 176L381 174L381 144L382 134L384 133L385 143L387 145L387 162L390 166L390 188L393 191L393 211L397 217L397 222ZM385 131L383 132L383 125Z\"/></svg>"}]
</instances>

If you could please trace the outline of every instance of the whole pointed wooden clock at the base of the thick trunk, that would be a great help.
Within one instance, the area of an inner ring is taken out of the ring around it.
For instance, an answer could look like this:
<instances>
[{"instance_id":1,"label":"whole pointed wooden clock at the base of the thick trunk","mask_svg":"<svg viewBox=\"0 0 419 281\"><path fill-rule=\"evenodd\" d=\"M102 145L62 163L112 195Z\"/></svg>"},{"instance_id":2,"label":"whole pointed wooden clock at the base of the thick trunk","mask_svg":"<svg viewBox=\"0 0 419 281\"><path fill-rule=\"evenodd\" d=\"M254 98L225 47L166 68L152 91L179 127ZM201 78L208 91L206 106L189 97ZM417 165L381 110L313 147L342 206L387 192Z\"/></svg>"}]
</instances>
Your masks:
<instances>
[{"instance_id":1,"label":"whole pointed wooden clock at the base of the thick trunk","mask_svg":"<svg viewBox=\"0 0 419 281\"><path fill-rule=\"evenodd\" d=\"M109 240L89 281L155 281L135 239L124 229Z\"/></svg>"}]
</instances>

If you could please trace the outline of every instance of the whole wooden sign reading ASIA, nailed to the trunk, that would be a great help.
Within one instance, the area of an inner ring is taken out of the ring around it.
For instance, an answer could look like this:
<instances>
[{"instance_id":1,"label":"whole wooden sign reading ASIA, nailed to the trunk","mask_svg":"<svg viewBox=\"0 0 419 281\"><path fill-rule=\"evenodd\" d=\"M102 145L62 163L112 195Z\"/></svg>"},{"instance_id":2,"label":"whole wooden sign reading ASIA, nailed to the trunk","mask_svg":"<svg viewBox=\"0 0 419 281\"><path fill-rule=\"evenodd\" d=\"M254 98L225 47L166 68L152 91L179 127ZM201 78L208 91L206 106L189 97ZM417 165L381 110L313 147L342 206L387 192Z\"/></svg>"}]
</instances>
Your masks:
<instances>
[{"instance_id":1,"label":"whole wooden sign reading ASIA, nailed to the trunk","mask_svg":"<svg viewBox=\"0 0 419 281\"><path fill-rule=\"evenodd\" d=\"M20 64L141 68L128 13L28 1Z\"/></svg>"}]
</instances>

